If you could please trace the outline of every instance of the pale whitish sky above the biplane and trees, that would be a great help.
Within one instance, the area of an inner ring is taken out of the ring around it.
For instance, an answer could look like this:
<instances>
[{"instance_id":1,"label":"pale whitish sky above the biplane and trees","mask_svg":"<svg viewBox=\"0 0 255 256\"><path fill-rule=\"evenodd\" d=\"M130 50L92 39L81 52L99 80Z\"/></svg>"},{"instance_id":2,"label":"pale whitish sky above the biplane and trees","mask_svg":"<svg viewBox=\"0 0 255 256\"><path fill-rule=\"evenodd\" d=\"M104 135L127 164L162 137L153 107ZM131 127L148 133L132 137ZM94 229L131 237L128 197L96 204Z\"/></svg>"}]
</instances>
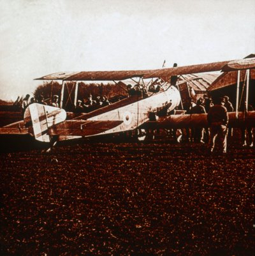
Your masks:
<instances>
[{"instance_id":1,"label":"pale whitish sky above the biplane and trees","mask_svg":"<svg viewBox=\"0 0 255 256\"><path fill-rule=\"evenodd\" d=\"M254 0L0 0L0 99L55 72L143 70L255 53Z\"/></svg>"}]
</instances>

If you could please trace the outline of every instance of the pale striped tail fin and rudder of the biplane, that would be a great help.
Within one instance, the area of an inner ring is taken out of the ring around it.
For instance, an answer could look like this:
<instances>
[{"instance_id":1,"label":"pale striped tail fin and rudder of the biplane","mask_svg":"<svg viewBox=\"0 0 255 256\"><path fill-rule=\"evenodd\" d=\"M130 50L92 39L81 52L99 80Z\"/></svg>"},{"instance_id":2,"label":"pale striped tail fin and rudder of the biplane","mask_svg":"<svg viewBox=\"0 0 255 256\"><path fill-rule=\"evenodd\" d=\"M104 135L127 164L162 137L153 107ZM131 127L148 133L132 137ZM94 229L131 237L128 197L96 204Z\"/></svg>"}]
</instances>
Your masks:
<instances>
[{"instance_id":1,"label":"pale striped tail fin and rudder of the biplane","mask_svg":"<svg viewBox=\"0 0 255 256\"><path fill-rule=\"evenodd\" d=\"M25 109L25 126L31 127L29 133L42 142L50 142L48 128L65 120L66 111L57 107L33 103Z\"/></svg>"}]
</instances>

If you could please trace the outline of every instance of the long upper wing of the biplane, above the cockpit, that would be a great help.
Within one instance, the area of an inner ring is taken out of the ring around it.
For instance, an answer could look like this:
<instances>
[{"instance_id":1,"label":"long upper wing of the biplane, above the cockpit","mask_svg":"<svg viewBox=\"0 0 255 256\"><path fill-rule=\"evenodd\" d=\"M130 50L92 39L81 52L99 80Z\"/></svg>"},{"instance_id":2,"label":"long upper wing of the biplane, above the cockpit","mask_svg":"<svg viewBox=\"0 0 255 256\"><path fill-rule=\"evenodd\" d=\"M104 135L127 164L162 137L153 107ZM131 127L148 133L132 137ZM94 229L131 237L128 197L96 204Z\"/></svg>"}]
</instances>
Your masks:
<instances>
[{"instance_id":1,"label":"long upper wing of the biplane, above the cockpit","mask_svg":"<svg viewBox=\"0 0 255 256\"><path fill-rule=\"evenodd\" d=\"M53 73L35 80L71 80L71 81L92 81L92 80L125 80L132 77L143 77L150 79L161 77L166 80L173 75L185 75L189 73L203 73L233 70L243 70L255 68L255 57L239 59L235 61L221 61L216 63L196 64L190 66L180 66L175 68L161 68L159 70L123 70L123 71L95 71L95 72L62 72Z\"/></svg>"}]
</instances>

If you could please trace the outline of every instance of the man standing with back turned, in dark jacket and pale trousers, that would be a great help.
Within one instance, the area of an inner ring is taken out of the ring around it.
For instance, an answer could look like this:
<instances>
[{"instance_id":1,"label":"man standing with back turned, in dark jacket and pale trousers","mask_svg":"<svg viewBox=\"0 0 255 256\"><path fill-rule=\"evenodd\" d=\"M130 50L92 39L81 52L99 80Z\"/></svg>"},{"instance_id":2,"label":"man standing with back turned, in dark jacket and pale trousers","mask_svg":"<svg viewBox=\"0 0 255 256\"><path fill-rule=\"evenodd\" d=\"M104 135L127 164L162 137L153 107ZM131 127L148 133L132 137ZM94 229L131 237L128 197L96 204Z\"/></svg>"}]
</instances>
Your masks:
<instances>
[{"instance_id":1,"label":"man standing with back turned, in dark jacket and pale trousers","mask_svg":"<svg viewBox=\"0 0 255 256\"><path fill-rule=\"evenodd\" d=\"M219 147L221 153L227 151L227 125L228 111L224 107L224 98L215 101L215 105L211 107L207 114L207 122L210 127L210 152L214 151L215 139L219 138Z\"/></svg>"}]
</instances>

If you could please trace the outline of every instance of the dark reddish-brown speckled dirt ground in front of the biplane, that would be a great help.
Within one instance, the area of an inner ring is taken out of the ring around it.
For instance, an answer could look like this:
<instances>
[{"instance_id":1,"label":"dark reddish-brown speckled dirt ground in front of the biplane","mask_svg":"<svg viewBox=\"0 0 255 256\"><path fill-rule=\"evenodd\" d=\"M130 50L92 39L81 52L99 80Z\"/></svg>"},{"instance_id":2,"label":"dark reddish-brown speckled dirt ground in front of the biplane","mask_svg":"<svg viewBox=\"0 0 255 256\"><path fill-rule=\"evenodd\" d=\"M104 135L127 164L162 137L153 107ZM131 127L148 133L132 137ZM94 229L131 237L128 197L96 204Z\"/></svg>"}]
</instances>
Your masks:
<instances>
[{"instance_id":1,"label":"dark reddish-brown speckled dirt ground in front of the biplane","mask_svg":"<svg viewBox=\"0 0 255 256\"><path fill-rule=\"evenodd\" d=\"M255 150L229 143L3 152L0 254L254 255Z\"/></svg>"}]
</instances>

